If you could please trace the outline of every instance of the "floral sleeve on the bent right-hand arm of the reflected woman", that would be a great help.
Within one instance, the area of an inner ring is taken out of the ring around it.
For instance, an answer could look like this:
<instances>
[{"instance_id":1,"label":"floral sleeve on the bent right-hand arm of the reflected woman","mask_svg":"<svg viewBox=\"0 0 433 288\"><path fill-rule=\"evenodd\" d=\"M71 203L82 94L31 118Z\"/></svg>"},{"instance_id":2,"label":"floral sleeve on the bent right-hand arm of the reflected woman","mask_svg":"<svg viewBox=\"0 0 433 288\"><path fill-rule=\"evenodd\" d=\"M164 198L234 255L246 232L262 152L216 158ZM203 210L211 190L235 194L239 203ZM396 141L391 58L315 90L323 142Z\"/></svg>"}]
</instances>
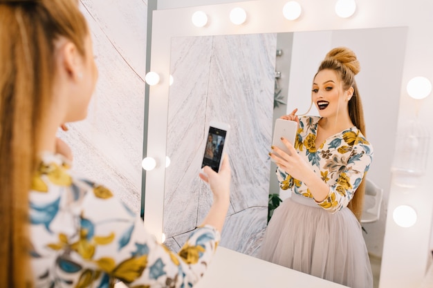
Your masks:
<instances>
[{"instance_id":1,"label":"floral sleeve on the bent right-hand arm of the reflected woman","mask_svg":"<svg viewBox=\"0 0 433 288\"><path fill-rule=\"evenodd\" d=\"M335 213L347 207L353 195L361 184L362 178L369 170L373 155L370 144L357 144L353 146L351 155L342 166L337 181L329 186L328 196L317 202L325 210Z\"/></svg>"}]
</instances>

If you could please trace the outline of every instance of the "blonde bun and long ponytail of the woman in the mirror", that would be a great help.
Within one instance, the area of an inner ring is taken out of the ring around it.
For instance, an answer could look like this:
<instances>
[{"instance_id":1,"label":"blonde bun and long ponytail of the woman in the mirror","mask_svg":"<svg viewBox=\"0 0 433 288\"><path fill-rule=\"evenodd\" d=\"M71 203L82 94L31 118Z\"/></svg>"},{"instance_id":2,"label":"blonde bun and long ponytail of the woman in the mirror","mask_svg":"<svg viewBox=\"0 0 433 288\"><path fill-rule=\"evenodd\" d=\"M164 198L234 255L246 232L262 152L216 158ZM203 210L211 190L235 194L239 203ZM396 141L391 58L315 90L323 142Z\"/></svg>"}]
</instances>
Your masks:
<instances>
[{"instance_id":1,"label":"blonde bun and long ponytail of the woman in the mirror","mask_svg":"<svg viewBox=\"0 0 433 288\"><path fill-rule=\"evenodd\" d=\"M355 75L360 72L360 63L356 54L346 47L333 48L326 54L326 57L317 69L317 73L324 69L334 70L338 73L344 90L353 87L353 96L349 100L348 104L349 117L353 125L355 125L361 133L365 135L364 111L362 110L360 93L355 81ZM364 195L365 175L348 205L349 209L351 209L353 214L356 215L358 220L360 220L362 215Z\"/></svg>"}]
</instances>

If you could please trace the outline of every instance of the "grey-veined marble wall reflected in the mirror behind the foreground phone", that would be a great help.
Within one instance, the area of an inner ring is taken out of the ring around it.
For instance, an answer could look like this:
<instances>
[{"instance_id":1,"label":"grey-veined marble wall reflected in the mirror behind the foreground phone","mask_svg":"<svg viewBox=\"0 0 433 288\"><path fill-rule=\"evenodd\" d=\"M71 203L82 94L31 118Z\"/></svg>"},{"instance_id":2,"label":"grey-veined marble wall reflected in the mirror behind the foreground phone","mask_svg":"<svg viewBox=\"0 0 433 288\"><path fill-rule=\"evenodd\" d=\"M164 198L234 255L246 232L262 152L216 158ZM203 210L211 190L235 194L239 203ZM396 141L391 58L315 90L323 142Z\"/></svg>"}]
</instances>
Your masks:
<instances>
[{"instance_id":1,"label":"grey-veined marble wall reflected in the mirror behind the foreground phone","mask_svg":"<svg viewBox=\"0 0 433 288\"><path fill-rule=\"evenodd\" d=\"M172 39L164 233L176 251L205 218L212 192L199 179L211 120L231 126L230 209L221 245L255 253L266 226L276 35ZM181 221L179 221L181 220Z\"/></svg>"}]
</instances>

